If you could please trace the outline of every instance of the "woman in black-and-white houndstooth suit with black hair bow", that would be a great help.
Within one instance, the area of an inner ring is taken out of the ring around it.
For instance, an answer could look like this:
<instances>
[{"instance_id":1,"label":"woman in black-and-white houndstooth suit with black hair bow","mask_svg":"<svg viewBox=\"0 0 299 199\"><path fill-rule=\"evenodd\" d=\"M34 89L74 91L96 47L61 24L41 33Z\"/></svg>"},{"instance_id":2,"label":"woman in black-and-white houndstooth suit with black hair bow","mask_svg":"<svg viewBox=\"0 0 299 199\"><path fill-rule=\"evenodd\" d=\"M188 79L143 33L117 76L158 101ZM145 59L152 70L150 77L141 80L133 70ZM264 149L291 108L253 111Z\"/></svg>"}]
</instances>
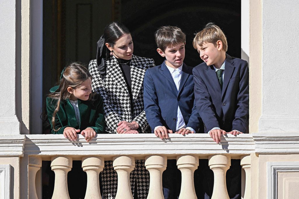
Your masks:
<instances>
[{"instance_id":1,"label":"woman in black-and-white houndstooth suit with black hair bow","mask_svg":"<svg viewBox=\"0 0 299 199\"><path fill-rule=\"evenodd\" d=\"M103 98L107 133L150 133L143 104L145 71L155 66L153 59L133 55L129 30L119 22L104 29L97 42L97 59L89 63L92 90ZM144 160L136 160L130 174L133 196L147 198L149 173ZM101 172L103 198L115 198L117 173L112 161L105 162Z\"/></svg>"}]
</instances>

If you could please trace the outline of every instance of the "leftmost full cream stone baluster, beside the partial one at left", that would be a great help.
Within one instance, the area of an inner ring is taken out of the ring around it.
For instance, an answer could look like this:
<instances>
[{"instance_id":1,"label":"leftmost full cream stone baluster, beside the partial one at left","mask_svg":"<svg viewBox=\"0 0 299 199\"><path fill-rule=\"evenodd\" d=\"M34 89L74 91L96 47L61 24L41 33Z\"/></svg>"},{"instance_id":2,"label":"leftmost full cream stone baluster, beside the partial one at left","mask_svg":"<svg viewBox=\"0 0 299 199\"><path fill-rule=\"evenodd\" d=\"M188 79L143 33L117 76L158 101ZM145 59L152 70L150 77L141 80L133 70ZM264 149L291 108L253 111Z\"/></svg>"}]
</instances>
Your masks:
<instances>
[{"instance_id":1,"label":"leftmost full cream stone baluster, beside the partial one at left","mask_svg":"<svg viewBox=\"0 0 299 199\"><path fill-rule=\"evenodd\" d=\"M68 195L68 172L73 166L73 158L67 156L54 156L51 158L51 169L55 173L54 192L52 199L65 198Z\"/></svg>"}]
</instances>

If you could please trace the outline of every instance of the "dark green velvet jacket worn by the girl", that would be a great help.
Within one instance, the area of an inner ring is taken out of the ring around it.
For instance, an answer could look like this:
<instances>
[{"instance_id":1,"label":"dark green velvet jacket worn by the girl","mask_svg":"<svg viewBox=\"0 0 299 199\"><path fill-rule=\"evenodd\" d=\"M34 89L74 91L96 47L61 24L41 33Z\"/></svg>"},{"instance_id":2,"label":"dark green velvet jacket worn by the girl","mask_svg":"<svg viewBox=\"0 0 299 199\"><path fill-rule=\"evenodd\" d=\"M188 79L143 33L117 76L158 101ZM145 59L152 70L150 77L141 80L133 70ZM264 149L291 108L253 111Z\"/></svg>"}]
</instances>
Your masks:
<instances>
[{"instance_id":1,"label":"dark green velvet jacket worn by the girl","mask_svg":"<svg viewBox=\"0 0 299 199\"><path fill-rule=\"evenodd\" d=\"M79 100L78 107L80 112L80 124L78 125L75 115L75 110L69 99L60 102L60 108L55 116L55 129L60 128L57 132L53 130L52 117L54 110L57 107L57 100L47 97L46 100L48 120L51 125L52 134L63 134L66 127L73 127L75 129L85 130L91 127L97 134L104 133L104 110L103 100L99 94L94 96L94 100Z\"/></svg>"}]
</instances>

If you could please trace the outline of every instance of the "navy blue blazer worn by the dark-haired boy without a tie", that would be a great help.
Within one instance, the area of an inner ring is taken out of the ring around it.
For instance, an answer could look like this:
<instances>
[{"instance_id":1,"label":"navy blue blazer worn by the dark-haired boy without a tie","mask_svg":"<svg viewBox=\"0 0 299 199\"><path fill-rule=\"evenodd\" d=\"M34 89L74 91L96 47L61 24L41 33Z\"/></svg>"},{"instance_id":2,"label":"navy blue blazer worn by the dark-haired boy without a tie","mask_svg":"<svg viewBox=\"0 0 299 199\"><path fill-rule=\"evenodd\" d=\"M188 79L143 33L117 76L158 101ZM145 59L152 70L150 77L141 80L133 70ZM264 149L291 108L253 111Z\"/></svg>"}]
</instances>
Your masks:
<instances>
[{"instance_id":1,"label":"navy blue blazer worn by the dark-haired boy without a tie","mask_svg":"<svg viewBox=\"0 0 299 199\"><path fill-rule=\"evenodd\" d=\"M201 119L194 101L192 67L183 64L179 91L163 64L147 69L144 75L144 110L152 133L156 126L176 131L178 106L186 127L198 130Z\"/></svg>"}]
</instances>

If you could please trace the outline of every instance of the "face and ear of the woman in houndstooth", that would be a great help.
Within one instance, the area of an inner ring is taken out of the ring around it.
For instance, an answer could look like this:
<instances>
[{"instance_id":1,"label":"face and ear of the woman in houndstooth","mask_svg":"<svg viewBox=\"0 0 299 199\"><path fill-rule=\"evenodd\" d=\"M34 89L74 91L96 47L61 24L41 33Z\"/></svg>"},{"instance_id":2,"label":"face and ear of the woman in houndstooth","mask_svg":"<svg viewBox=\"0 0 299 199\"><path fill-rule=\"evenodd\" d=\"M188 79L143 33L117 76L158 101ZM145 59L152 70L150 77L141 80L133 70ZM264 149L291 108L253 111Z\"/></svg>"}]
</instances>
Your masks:
<instances>
[{"instance_id":1,"label":"face and ear of the woman in houndstooth","mask_svg":"<svg viewBox=\"0 0 299 199\"><path fill-rule=\"evenodd\" d=\"M106 43L107 48L112 51L116 58L129 60L133 54L133 41L131 34L124 34L121 36L113 47Z\"/></svg>"}]
</instances>

